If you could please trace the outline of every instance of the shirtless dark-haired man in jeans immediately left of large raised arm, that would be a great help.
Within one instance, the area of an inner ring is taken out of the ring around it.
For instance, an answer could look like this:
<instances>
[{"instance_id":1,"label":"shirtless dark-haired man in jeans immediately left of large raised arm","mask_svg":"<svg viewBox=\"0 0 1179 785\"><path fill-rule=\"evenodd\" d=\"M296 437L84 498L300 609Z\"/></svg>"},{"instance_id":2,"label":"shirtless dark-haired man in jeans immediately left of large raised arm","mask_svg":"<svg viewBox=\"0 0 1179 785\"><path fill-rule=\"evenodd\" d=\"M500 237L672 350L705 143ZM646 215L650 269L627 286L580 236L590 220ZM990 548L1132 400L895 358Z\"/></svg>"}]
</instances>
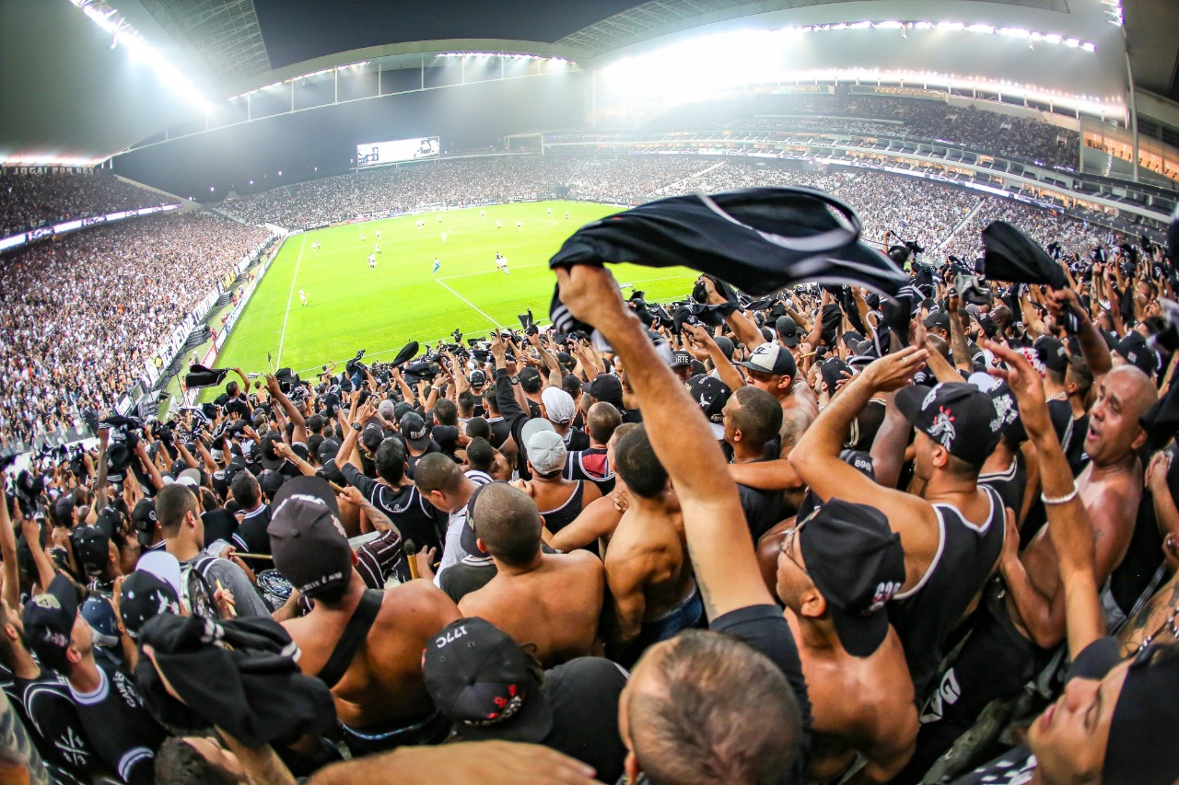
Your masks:
<instances>
[{"instance_id":1,"label":"shirtless dark-haired man in jeans immediately left of large raised arm","mask_svg":"<svg viewBox=\"0 0 1179 785\"><path fill-rule=\"evenodd\" d=\"M618 476L630 507L606 550L606 580L613 598L613 639L623 665L652 644L694 627L704 614L684 540L684 521L646 429L619 438Z\"/></svg>"}]
</instances>

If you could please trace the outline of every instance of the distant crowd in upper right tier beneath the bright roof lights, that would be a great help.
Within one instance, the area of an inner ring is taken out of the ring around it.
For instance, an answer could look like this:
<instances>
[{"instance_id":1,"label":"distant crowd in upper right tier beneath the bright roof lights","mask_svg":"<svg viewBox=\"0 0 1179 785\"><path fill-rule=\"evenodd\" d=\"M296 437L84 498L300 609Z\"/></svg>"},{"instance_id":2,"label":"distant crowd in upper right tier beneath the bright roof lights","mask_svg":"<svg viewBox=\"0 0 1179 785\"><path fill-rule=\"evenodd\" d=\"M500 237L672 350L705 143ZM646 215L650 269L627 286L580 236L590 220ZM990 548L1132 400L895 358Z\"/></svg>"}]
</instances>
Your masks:
<instances>
[{"instance_id":1,"label":"distant crowd in upper right tier beneath the bright roof lights","mask_svg":"<svg viewBox=\"0 0 1179 785\"><path fill-rule=\"evenodd\" d=\"M783 117L770 117L775 114ZM888 123L864 121L872 119ZM1076 131L917 98L838 94L725 98L677 106L644 124L643 130L814 131L907 137L941 140L1042 166L1076 170L1080 165Z\"/></svg>"}]
</instances>

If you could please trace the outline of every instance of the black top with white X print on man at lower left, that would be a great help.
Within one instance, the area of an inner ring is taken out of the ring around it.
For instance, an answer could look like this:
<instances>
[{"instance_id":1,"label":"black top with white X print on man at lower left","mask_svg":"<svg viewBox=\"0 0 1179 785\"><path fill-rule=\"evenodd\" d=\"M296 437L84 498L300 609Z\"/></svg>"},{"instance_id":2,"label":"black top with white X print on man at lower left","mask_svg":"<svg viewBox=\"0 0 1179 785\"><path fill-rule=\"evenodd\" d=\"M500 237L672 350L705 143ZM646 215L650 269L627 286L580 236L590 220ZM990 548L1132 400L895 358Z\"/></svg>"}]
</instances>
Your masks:
<instances>
[{"instance_id":1,"label":"black top with white X print on man at lower left","mask_svg":"<svg viewBox=\"0 0 1179 785\"><path fill-rule=\"evenodd\" d=\"M98 757L129 785L156 781L156 751L167 733L144 707L134 680L99 664L100 684L81 694L70 685L78 717Z\"/></svg>"}]
</instances>

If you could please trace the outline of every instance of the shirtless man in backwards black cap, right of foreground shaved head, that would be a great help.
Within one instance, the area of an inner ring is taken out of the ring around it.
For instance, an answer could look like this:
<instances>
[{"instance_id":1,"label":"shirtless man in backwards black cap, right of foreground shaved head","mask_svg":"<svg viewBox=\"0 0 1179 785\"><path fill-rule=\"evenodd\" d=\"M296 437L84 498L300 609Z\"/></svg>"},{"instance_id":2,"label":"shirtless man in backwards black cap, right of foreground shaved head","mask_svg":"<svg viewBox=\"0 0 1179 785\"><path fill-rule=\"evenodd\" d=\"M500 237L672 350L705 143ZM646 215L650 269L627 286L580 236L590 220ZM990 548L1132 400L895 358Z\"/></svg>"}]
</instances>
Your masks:
<instances>
[{"instance_id":1,"label":"shirtless man in backwards black cap, right of foreground shaved head","mask_svg":"<svg viewBox=\"0 0 1179 785\"><path fill-rule=\"evenodd\" d=\"M831 500L786 536L777 593L811 700L809 780L838 779L859 753L850 781L887 783L913 754L913 682L884 607L903 581L901 539L871 507Z\"/></svg>"}]
</instances>

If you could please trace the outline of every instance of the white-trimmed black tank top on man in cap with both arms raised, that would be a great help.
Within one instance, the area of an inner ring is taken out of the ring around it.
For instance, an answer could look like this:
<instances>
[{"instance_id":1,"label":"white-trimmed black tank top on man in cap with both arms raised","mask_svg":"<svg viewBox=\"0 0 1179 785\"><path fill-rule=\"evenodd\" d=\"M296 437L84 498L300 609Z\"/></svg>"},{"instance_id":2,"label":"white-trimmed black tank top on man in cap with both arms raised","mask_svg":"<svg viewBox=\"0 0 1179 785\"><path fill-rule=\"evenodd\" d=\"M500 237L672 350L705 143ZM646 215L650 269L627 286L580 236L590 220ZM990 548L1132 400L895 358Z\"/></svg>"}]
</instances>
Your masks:
<instances>
[{"instance_id":1,"label":"white-trimmed black tank top on man in cap with both arms raised","mask_svg":"<svg viewBox=\"0 0 1179 785\"><path fill-rule=\"evenodd\" d=\"M918 701L937 673L947 638L987 582L1003 548L1003 502L994 488L980 487L990 497L987 520L975 526L956 507L934 504L941 529L937 553L921 582L889 602L889 622L904 646Z\"/></svg>"}]
</instances>

